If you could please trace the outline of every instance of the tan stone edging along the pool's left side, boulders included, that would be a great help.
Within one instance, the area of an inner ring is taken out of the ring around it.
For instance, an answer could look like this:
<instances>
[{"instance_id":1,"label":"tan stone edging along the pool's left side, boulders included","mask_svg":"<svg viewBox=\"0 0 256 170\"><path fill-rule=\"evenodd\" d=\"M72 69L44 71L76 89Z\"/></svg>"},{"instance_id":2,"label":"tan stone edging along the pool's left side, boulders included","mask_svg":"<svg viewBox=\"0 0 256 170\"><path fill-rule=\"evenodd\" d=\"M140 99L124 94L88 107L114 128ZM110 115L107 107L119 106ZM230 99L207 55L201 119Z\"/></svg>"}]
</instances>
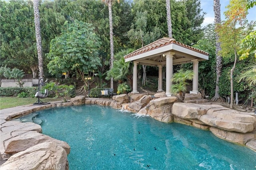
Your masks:
<instances>
[{"instance_id":1,"label":"tan stone edging along the pool's left side, boulders included","mask_svg":"<svg viewBox=\"0 0 256 170\"><path fill-rule=\"evenodd\" d=\"M68 143L43 135L41 126L36 123L22 123L11 119L50 107L71 105L73 104L70 102L58 101L0 110L0 169L69 169Z\"/></svg>"}]
</instances>

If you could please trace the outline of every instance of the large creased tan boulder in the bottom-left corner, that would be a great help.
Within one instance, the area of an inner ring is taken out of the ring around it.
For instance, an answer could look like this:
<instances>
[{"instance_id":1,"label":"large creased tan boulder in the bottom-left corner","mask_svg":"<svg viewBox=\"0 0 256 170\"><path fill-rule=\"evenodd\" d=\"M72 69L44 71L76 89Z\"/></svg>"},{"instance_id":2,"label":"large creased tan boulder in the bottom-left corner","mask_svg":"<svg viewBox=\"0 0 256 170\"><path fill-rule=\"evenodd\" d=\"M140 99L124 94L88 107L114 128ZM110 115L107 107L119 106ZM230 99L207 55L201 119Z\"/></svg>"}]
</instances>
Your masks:
<instances>
[{"instance_id":1,"label":"large creased tan boulder in the bottom-left corner","mask_svg":"<svg viewBox=\"0 0 256 170\"><path fill-rule=\"evenodd\" d=\"M1 170L42 170L68 169L68 159L65 149L54 142L40 143L22 152L12 155Z\"/></svg>"}]
</instances>

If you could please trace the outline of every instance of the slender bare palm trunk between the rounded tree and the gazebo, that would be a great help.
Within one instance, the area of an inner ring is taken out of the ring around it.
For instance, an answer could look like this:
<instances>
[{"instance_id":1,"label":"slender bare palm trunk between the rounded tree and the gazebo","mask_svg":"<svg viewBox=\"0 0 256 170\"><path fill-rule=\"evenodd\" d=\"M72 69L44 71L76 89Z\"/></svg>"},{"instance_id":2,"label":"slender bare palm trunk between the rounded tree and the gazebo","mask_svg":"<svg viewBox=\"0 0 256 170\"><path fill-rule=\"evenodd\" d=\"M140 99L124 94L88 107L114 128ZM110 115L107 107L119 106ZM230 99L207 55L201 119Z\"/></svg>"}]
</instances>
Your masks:
<instances>
[{"instance_id":1,"label":"slender bare palm trunk between the rounded tree and the gazebo","mask_svg":"<svg viewBox=\"0 0 256 170\"><path fill-rule=\"evenodd\" d=\"M109 35L110 35L110 69L113 68L114 62L114 40L113 40L113 23L112 23L112 1L108 1L109 15ZM114 88L113 77L110 79L110 88Z\"/></svg>"}]
</instances>

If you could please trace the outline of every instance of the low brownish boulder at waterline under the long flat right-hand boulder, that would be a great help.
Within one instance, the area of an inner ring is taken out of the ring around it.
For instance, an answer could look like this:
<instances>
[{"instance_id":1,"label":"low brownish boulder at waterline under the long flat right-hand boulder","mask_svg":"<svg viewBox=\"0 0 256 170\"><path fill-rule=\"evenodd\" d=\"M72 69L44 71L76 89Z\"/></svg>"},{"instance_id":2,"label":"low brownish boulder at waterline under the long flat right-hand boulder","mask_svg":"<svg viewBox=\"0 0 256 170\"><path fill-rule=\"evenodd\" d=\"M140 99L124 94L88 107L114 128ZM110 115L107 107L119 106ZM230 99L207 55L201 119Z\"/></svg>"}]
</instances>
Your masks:
<instances>
[{"instance_id":1,"label":"low brownish boulder at waterline under the long flat right-hand boulder","mask_svg":"<svg viewBox=\"0 0 256 170\"><path fill-rule=\"evenodd\" d=\"M219 138L225 139L230 142L246 144L248 141L254 139L253 133L239 133L239 132L230 132L216 127L210 127L210 131Z\"/></svg>"}]
</instances>

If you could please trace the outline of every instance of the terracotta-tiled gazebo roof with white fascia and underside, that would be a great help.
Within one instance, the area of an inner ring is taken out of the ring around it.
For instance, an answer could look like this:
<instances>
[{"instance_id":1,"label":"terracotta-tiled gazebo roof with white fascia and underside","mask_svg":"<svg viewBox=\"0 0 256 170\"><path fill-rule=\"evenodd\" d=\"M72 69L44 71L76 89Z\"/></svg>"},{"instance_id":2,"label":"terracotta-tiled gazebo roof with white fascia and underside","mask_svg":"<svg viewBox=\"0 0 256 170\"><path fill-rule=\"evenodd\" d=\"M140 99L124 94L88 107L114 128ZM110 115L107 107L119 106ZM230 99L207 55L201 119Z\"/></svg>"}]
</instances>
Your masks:
<instances>
[{"instance_id":1,"label":"terracotta-tiled gazebo roof with white fascia and underside","mask_svg":"<svg viewBox=\"0 0 256 170\"><path fill-rule=\"evenodd\" d=\"M203 61L209 58L209 53L180 43L173 38L164 37L125 55L124 59L125 62L138 61L140 64L150 66L166 65L165 54L170 51L175 53L173 65L190 63L194 59Z\"/></svg>"}]
</instances>

